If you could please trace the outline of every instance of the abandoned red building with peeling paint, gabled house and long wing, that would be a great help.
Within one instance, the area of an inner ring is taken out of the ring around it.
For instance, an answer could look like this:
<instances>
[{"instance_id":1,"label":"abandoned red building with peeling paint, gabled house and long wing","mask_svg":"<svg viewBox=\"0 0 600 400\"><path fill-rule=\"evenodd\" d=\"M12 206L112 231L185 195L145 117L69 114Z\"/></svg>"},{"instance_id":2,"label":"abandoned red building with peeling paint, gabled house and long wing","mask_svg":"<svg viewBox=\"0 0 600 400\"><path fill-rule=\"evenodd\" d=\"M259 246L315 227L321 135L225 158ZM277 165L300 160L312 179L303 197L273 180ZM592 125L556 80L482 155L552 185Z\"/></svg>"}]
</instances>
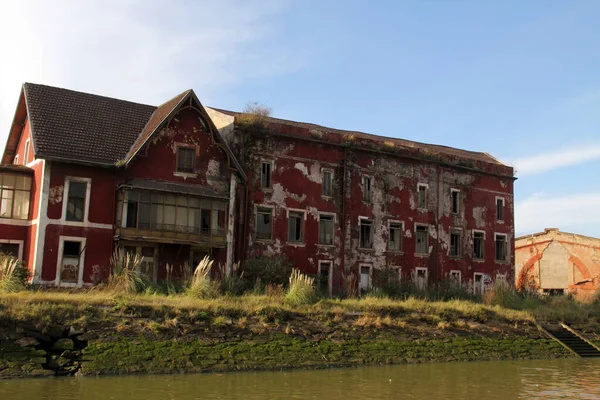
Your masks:
<instances>
[{"instance_id":1,"label":"abandoned red building with peeling paint, gabled house and long wing","mask_svg":"<svg viewBox=\"0 0 600 400\"><path fill-rule=\"evenodd\" d=\"M115 248L231 273L287 257L332 293L514 280L513 170L487 153L26 83L0 167L0 251L41 284L93 284Z\"/></svg>"}]
</instances>

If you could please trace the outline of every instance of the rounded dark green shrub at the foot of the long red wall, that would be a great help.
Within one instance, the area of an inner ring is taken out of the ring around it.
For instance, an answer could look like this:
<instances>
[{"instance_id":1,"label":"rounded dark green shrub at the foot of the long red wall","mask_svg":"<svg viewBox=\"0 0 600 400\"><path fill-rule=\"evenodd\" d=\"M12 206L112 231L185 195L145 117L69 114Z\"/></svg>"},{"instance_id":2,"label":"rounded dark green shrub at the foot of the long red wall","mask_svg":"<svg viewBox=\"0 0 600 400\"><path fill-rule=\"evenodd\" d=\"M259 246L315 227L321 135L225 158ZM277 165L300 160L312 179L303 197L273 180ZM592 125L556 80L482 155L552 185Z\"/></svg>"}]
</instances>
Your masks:
<instances>
[{"instance_id":1,"label":"rounded dark green shrub at the foot of the long red wall","mask_svg":"<svg viewBox=\"0 0 600 400\"><path fill-rule=\"evenodd\" d=\"M262 292L266 285L285 285L292 273L292 264L284 257L257 257L247 260L243 280L247 289Z\"/></svg>"}]
</instances>

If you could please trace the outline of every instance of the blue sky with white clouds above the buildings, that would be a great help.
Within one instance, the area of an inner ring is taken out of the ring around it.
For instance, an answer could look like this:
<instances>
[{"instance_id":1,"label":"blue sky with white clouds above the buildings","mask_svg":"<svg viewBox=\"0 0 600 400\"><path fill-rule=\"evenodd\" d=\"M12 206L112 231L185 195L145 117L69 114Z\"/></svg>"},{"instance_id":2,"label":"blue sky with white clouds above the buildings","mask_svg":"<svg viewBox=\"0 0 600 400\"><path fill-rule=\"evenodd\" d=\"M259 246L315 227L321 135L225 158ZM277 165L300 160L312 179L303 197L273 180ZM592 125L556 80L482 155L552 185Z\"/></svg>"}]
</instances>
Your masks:
<instances>
[{"instance_id":1,"label":"blue sky with white clouds above the buildings","mask_svg":"<svg viewBox=\"0 0 600 400\"><path fill-rule=\"evenodd\" d=\"M600 237L600 2L73 0L0 5L0 141L21 82L487 151L516 233Z\"/></svg>"}]
</instances>

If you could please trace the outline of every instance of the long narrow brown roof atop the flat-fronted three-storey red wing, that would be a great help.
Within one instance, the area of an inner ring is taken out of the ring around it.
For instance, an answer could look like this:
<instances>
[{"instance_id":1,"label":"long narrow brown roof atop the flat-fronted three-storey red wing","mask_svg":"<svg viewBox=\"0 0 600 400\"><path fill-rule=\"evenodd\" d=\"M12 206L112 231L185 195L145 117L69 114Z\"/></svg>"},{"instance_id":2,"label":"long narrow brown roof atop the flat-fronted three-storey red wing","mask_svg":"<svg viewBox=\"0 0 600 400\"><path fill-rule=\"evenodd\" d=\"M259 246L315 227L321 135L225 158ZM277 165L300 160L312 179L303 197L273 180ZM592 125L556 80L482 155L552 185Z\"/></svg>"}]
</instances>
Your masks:
<instances>
[{"instance_id":1,"label":"long narrow brown roof atop the flat-fronted three-storey red wing","mask_svg":"<svg viewBox=\"0 0 600 400\"><path fill-rule=\"evenodd\" d=\"M241 112L236 112L236 111L223 110L223 109L214 108L214 107L211 107L211 108L216 111L219 111L223 114L231 115L234 117L242 114ZM286 125L286 126L291 126L291 127L296 127L296 128L302 128L307 131L319 131L319 132L323 132L323 133L332 133L332 134L339 136L340 140L343 140L343 138L348 138L350 136L353 136L354 138L366 139L368 141L377 142L382 145L385 144L386 142L389 142L389 143L393 143L393 145L395 147L418 149L421 151L428 152L430 154L439 154L442 156L449 156L452 158L459 157L459 158L466 159L466 160L481 161L481 162L485 162L485 163L491 163L491 164L505 166L505 164L503 164L502 162L500 162L498 159L494 158L493 156L489 155L488 153L456 149L453 147L441 146L441 145L436 145L436 144L413 142L410 140L378 136L378 135L373 135L370 133L364 133L364 132L358 132L358 131L348 131L348 130L342 130L342 129L328 128L325 126L316 125L316 124L312 124L312 123L308 123L308 122L297 122L297 121L290 121L290 120L286 120L286 119L273 118L273 117L266 117L265 120L266 120L266 122L268 122L271 125Z\"/></svg>"}]
</instances>

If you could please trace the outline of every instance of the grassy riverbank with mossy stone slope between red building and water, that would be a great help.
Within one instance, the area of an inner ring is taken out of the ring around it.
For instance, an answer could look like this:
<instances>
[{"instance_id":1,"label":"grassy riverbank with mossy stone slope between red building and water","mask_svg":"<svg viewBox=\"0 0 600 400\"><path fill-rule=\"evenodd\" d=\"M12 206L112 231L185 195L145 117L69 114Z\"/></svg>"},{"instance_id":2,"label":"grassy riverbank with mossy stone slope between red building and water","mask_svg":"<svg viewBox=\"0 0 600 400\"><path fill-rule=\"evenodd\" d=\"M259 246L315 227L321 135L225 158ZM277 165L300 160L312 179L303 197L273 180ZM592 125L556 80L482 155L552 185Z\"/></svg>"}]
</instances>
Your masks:
<instances>
[{"instance_id":1,"label":"grassy riverbank with mossy stone slope between red building and water","mask_svg":"<svg viewBox=\"0 0 600 400\"><path fill-rule=\"evenodd\" d=\"M0 294L0 376L46 375L49 364L95 375L569 357L534 319L459 300L291 307L281 296L27 291ZM44 342L68 332L75 348Z\"/></svg>"}]
</instances>

